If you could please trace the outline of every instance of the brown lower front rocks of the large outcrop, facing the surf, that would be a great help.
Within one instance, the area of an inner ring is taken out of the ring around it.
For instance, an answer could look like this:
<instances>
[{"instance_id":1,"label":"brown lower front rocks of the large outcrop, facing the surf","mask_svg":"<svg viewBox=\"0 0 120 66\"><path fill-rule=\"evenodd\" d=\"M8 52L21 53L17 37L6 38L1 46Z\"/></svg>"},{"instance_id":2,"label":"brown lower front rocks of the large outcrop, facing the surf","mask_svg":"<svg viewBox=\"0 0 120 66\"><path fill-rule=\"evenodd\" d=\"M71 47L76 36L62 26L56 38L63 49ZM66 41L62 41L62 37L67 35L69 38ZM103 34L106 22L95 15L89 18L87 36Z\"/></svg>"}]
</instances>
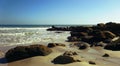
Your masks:
<instances>
[{"instance_id":1,"label":"brown lower front rocks of the large outcrop, facing the surf","mask_svg":"<svg viewBox=\"0 0 120 66\"><path fill-rule=\"evenodd\" d=\"M110 31L92 31L90 33L86 32L71 32L71 36L68 37L68 41L84 41L87 43L94 42L112 42L112 39L115 38L116 35Z\"/></svg>"}]
</instances>

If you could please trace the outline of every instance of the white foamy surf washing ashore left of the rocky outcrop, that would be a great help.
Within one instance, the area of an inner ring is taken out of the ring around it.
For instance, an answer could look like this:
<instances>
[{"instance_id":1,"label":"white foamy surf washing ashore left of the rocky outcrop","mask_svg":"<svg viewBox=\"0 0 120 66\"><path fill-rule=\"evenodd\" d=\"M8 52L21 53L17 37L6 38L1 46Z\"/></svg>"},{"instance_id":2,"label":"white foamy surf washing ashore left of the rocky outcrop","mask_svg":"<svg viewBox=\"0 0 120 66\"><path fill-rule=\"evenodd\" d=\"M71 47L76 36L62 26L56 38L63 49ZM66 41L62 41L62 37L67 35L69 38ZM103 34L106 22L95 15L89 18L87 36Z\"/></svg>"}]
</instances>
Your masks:
<instances>
[{"instance_id":1,"label":"white foamy surf washing ashore left of the rocky outcrop","mask_svg":"<svg viewBox=\"0 0 120 66\"><path fill-rule=\"evenodd\" d=\"M70 36L69 31L47 31L49 27L0 27L0 46L64 43Z\"/></svg>"}]
</instances>

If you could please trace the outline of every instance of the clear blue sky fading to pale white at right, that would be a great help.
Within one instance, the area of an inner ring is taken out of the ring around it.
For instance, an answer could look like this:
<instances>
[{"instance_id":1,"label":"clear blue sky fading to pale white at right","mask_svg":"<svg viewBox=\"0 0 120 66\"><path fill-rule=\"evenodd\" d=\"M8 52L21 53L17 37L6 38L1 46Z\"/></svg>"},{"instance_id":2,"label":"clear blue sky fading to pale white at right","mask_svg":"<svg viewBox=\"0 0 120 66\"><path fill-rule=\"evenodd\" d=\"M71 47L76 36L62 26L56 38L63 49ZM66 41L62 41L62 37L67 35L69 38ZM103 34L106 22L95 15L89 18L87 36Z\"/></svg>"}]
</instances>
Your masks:
<instances>
[{"instance_id":1,"label":"clear blue sky fading to pale white at right","mask_svg":"<svg viewBox=\"0 0 120 66\"><path fill-rule=\"evenodd\" d=\"M0 0L0 24L120 22L120 0Z\"/></svg>"}]
</instances>

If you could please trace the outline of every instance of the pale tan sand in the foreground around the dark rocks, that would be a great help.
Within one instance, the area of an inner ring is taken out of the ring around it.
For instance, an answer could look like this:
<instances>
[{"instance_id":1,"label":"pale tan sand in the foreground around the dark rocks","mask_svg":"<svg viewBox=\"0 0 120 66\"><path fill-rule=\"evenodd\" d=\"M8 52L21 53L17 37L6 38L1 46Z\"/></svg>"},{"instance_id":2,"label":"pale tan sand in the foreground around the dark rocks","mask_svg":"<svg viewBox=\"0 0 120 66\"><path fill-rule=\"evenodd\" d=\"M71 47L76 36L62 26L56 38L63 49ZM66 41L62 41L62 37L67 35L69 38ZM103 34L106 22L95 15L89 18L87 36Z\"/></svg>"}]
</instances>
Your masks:
<instances>
[{"instance_id":1,"label":"pale tan sand in the foreground around the dark rocks","mask_svg":"<svg viewBox=\"0 0 120 66\"><path fill-rule=\"evenodd\" d=\"M101 47L92 47L85 50L78 50L76 47L55 47L52 50L53 52L47 56L36 56L11 63L0 63L0 66L120 66L120 51L104 50ZM81 60L81 62L70 64L54 64L51 62L65 51L76 51L78 55L73 57ZM110 57L102 57L105 53L108 53ZM3 56L4 53L0 51L0 57ZM94 61L96 65L89 64L89 61Z\"/></svg>"}]
</instances>

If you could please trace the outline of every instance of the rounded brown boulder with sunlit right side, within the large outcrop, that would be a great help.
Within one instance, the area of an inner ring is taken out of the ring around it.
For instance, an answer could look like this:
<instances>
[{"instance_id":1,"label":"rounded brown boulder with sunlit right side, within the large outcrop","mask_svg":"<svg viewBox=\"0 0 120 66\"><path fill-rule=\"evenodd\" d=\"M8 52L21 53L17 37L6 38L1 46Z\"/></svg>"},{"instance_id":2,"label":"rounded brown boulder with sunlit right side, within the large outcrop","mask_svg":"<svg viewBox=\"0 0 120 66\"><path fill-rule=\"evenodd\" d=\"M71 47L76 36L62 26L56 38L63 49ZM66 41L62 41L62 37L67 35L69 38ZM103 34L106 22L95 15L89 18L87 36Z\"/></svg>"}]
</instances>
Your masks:
<instances>
[{"instance_id":1,"label":"rounded brown boulder with sunlit right side, within the large outcrop","mask_svg":"<svg viewBox=\"0 0 120 66\"><path fill-rule=\"evenodd\" d=\"M91 33L93 37L90 39L91 42L111 42L116 35L110 31L93 31Z\"/></svg>"}]
</instances>

